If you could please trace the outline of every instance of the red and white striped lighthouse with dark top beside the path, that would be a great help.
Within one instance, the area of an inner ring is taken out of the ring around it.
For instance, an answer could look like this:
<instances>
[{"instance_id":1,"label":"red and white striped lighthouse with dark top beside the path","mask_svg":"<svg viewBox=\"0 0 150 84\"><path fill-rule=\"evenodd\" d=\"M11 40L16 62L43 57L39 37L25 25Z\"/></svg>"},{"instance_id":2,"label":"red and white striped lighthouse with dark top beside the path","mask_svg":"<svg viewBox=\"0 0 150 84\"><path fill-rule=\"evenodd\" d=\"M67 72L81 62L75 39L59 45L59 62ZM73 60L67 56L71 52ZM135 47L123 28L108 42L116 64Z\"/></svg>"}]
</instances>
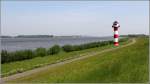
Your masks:
<instances>
[{"instance_id":1,"label":"red and white striped lighthouse with dark top beside the path","mask_svg":"<svg viewBox=\"0 0 150 84\"><path fill-rule=\"evenodd\" d=\"M118 46L119 45L119 42L118 42L118 38L119 38L118 28L120 27L120 25L117 21L114 21L112 27L114 28L114 45Z\"/></svg>"}]
</instances>

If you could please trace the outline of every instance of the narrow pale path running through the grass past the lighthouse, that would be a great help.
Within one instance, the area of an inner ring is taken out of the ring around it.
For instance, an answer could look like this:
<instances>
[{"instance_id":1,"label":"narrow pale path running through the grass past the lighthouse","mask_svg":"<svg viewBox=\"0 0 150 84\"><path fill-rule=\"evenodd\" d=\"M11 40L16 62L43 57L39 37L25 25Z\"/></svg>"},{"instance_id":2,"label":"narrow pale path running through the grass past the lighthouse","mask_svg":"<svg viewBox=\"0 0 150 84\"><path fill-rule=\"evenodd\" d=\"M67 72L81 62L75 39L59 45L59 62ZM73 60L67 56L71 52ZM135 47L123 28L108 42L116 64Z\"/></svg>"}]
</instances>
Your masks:
<instances>
[{"instance_id":1,"label":"narrow pale path running through the grass past the lighthouse","mask_svg":"<svg viewBox=\"0 0 150 84\"><path fill-rule=\"evenodd\" d=\"M48 65L48 66L44 66L44 67L36 68L36 69L33 69L33 70L25 71L23 73L18 73L18 74L15 74L15 75L4 77L4 78L2 78L2 81L5 82L5 81L14 80L16 78L20 78L20 77L28 76L28 75L31 75L31 74L34 74L34 73L38 73L38 72L47 70L47 69L52 68L52 67L61 66L63 64L67 64L67 63L70 63L70 62L73 62L73 61L85 59L85 58L95 56L95 55L98 55L98 54L101 54L101 53L104 53L104 52L109 52L109 51L113 51L113 50L116 50L116 49L119 49L119 48L127 47L127 46L130 46L130 45L134 44L135 42L136 42L136 40L132 39L132 42L130 42L126 45L123 45L123 46L118 46L116 48L105 49L105 50L97 51L97 52L91 52L91 53L86 54L85 56L77 57L77 58L66 60L66 61L63 61L63 62L56 63L56 64L51 64L51 65Z\"/></svg>"}]
</instances>

